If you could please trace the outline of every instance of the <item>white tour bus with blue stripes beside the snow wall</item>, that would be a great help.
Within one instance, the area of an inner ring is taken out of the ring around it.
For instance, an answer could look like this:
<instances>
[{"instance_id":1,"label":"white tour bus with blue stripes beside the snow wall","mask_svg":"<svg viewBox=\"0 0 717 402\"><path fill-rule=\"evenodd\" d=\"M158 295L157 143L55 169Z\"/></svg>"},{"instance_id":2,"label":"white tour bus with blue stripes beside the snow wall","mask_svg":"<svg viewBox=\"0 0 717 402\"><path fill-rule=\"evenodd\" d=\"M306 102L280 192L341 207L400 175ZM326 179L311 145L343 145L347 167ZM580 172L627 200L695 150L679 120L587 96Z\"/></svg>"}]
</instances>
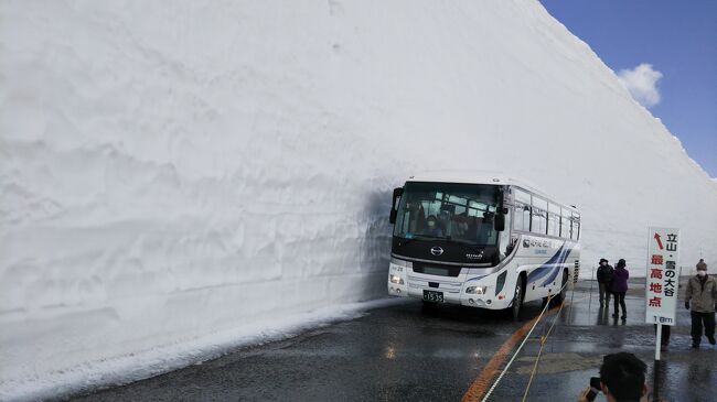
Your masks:
<instances>
[{"instance_id":1,"label":"white tour bus with blue stripes beside the snow wall","mask_svg":"<svg viewBox=\"0 0 717 402\"><path fill-rule=\"evenodd\" d=\"M507 177L411 176L394 189L390 222L393 296L517 317L524 302L564 300L578 278L580 214Z\"/></svg>"}]
</instances>

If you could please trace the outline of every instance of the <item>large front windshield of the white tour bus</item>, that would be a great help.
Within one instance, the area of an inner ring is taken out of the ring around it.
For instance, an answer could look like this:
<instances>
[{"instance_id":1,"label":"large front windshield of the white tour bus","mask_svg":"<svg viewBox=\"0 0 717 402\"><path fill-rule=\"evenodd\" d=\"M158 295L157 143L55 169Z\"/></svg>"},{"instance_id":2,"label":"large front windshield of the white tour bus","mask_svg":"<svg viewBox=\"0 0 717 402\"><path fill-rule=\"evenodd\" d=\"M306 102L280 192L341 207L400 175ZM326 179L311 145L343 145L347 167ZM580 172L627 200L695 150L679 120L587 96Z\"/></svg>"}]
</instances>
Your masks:
<instances>
[{"instance_id":1,"label":"large front windshield of the white tour bus","mask_svg":"<svg viewBox=\"0 0 717 402\"><path fill-rule=\"evenodd\" d=\"M495 246L493 218L499 186L408 182L400 197L394 236Z\"/></svg>"}]
</instances>

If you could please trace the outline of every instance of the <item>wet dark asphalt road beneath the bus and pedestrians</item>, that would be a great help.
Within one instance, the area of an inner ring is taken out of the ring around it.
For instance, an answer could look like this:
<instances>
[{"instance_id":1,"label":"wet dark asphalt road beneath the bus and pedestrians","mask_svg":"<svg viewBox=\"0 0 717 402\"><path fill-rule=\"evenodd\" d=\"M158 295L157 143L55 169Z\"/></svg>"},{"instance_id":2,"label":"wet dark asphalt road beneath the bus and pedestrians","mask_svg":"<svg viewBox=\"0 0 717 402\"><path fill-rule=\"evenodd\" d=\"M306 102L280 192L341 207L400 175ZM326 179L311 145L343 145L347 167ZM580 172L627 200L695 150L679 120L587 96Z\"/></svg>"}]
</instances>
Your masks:
<instances>
[{"instance_id":1,"label":"wet dark asphalt road beneath the bus and pedestrians","mask_svg":"<svg viewBox=\"0 0 717 402\"><path fill-rule=\"evenodd\" d=\"M575 401L606 354L634 352L652 376L654 332L643 323L642 283L631 284L624 323L599 308L589 286L581 282L557 315L528 401ZM501 345L541 309L539 302L529 303L514 322L500 312L425 309L408 302L72 401L459 401ZM555 317L538 324L491 401L522 400L539 336ZM706 339L698 350L689 345L689 314L678 309L670 351L663 354L661 396L717 400L717 348Z\"/></svg>"}]
</instances>

